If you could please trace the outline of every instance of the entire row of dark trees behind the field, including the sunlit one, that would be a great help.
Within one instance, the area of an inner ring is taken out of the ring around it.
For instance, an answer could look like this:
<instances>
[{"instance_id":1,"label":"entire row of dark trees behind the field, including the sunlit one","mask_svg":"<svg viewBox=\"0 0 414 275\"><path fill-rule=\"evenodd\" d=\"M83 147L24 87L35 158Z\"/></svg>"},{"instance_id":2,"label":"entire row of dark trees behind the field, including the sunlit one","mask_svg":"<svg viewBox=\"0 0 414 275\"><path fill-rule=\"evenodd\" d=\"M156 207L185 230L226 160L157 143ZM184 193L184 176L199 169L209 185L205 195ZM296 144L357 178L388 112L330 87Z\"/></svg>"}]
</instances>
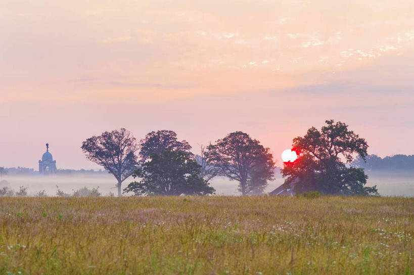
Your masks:
<instances>
[{"instance_id":1,"label":"entire row of dark trees behind the field, including the sunlit one","mask_svg":"<svg viewBox=\"0 0 414 275\"><path fill-rule=\"evenodd\" d=\"M378 195L376 187L365 187L363 168L352 163L356 156L365 161L367 148L345 123L327 120L320 130L311 127L293 139L298 158L284 163L284 187L294 186L297 193ZM140 141L125 128L105 131L84 141L81 149L87 159L115 176L118 196L214 194L210 180L215 176L237 181L242 195L259 195L274 179L270 149L242 131L201 146L198 155L171 130L149 132ZM134 181L122 189L129 176Z\"/></svg>"}]
</instances>

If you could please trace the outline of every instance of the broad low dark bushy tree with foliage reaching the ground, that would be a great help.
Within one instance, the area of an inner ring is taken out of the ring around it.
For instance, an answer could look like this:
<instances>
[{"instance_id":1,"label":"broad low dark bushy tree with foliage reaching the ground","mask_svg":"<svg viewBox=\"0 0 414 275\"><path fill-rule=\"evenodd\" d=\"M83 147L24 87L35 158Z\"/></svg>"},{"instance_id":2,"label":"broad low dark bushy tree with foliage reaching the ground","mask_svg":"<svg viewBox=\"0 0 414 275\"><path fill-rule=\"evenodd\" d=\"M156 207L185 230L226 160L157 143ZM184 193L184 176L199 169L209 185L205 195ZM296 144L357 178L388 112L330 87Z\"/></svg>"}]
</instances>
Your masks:
<instances>
[{"instance_id":1,"label":"broad low dark bushy tree with foliage reaching the ground","mask_svg":"<svg viewBox=\"0 0 414 275\"><path fill-rule=\"evenodd\" d=\"M176 196L207 195L215 192L214 188L199 177L201 167L192 154L166 149L159 154L153 153L150 158L142 169L137 169L133 174L134 178L142 178L141 181L131 182L124 189L124 193L133 192L135 196Z\"/></svg>"}]
</instances>

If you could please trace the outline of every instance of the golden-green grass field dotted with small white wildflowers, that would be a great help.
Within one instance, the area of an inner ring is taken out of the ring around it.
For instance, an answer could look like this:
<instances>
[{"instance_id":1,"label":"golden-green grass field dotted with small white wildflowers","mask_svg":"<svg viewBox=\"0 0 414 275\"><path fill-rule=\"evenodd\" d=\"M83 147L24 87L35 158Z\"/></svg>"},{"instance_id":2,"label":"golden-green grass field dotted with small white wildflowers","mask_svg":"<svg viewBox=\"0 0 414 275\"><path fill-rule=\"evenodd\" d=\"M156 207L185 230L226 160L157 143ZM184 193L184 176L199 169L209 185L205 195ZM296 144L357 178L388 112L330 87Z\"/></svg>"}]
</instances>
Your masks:
<instances>
[{"instance_id":1,"label":"golden-green grass field dotted with small white wildflowers","mask_svg":"<svg viewBox=\"0 0 414 275\"><path fill-rule=\"evenodd\" d=\"M412 274L414 199L0 198L0 274Z\"/></svg>"}]
</instances>

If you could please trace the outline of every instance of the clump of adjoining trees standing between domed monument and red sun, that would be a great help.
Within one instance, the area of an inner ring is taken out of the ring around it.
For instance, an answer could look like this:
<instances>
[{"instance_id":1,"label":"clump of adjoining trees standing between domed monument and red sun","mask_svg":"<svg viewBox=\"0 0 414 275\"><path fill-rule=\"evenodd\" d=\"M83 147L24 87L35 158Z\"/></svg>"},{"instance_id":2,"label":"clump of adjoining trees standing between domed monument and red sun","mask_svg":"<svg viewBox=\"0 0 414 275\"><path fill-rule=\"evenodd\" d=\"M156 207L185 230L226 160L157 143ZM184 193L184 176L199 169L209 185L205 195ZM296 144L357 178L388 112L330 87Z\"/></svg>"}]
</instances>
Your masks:
<instances>
[{"instance_id":1,"label":"clump of adjoining trees standing between domed monument and red sun","mask_svg":"<svg viewBox=\"0 0 414 275\"><path fill-rule=\"evenodd\" d=\"M84 141L81 149L87 159L115 176L118 196L214 194L210 180L215 176L238 181L242 195L261 194L273 179L269 148L241 131L201 146L200 155L171 130L149 132L139 142L125 128L106 131ZM136 180L122 190L122 182L131 175Z\"/></svg>"}]
</instances>

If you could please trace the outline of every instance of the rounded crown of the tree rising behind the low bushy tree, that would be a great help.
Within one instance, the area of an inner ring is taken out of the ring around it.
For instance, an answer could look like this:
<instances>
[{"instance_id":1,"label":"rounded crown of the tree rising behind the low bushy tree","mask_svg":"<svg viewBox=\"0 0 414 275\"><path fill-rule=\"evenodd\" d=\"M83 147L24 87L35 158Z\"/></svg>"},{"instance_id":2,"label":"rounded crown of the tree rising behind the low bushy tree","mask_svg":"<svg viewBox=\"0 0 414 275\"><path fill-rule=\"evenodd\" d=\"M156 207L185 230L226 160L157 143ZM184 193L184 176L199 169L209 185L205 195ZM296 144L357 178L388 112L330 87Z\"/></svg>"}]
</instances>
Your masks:
<instances>
[{"instance_id":1,"label":"rounded crown of the tree rising behind the low bushy tree","mask_svg":"<svg viewBox=\"0 0 414 275\"><path fill-rule=\"evenodd\" d=\"M150 159L154 153L160 154L161 151L166 149L180 150L190 152L191 146L186 141L179 142L177 140L177 134L170 130L158 130L149 132L145 139L140 141L140 157L143 164Z\"/></svg>"}]
</instances>

